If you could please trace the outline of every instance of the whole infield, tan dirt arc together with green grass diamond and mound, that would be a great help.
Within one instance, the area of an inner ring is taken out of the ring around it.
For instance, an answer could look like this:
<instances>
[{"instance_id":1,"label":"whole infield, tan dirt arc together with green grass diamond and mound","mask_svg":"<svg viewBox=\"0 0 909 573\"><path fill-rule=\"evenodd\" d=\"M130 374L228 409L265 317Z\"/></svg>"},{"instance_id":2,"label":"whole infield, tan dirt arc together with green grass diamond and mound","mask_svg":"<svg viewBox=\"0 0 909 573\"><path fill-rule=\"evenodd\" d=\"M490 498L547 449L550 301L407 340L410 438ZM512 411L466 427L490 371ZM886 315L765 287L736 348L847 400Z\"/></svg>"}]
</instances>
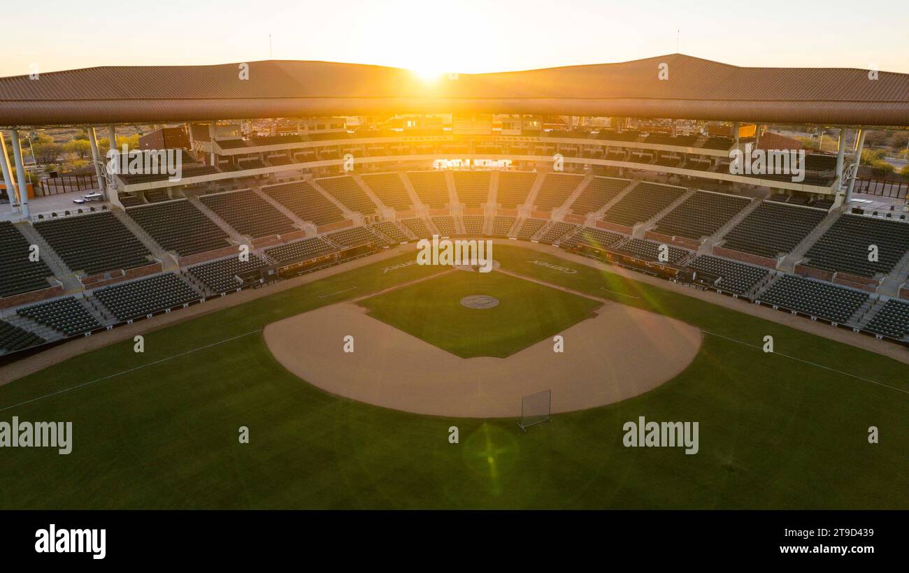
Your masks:
<instances>
[{"instance_id":1,"label":"whole infield, tan dirt arc together with green grass diamond and mound","mask_svg":"<svg viewBox=\"0 0 909 573\"><path fill-rule=\"evenodd\" d=\"M336 395L506 418L542 390L552 390L553 413L652 390L694 360L701 332L502 272L455 272L274 322L265 341L287 370Z\"/></svg>"}]
</instances>

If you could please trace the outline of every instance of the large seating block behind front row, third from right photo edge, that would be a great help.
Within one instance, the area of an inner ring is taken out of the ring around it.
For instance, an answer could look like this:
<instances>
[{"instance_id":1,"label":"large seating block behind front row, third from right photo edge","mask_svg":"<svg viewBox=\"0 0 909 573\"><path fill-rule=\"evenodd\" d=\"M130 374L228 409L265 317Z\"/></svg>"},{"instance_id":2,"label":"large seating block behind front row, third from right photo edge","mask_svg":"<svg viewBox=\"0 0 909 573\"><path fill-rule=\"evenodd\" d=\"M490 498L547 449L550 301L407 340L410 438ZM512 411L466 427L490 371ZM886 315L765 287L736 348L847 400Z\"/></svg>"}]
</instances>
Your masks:
<instances>
[{"instance_id":1,"label":"large seating block behind front row, third from right photo edge","mask_svg":"<svg viewBox=\"0 0 909 573\"><path fill-rule=\"evenodd\" d=\"M689 239L709 237L751 201L721 193L694 193L656 222L654 231Z\"/></svg>"}]
</instances>

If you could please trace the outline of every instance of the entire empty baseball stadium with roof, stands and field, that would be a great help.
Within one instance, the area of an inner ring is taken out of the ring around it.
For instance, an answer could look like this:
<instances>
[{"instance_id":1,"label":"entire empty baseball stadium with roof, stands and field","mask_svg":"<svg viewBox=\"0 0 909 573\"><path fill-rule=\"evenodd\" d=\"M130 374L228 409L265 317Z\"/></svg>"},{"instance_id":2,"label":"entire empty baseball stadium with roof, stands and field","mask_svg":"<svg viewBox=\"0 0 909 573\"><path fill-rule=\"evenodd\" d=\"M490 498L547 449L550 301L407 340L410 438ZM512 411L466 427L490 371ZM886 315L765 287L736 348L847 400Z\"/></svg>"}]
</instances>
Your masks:
<instances>
[{"instance_id":1,"label":"entire empty baseball stadium with roof, stands and field","mask_svg":"<svg viewBox=\"0 0 909 573\"><path fill-rule=\"evenodd\" d=\"M0 420L73 428L4 509L909 509L909 74L103 66L0 127Z\"/></svg>"}]
</instances>

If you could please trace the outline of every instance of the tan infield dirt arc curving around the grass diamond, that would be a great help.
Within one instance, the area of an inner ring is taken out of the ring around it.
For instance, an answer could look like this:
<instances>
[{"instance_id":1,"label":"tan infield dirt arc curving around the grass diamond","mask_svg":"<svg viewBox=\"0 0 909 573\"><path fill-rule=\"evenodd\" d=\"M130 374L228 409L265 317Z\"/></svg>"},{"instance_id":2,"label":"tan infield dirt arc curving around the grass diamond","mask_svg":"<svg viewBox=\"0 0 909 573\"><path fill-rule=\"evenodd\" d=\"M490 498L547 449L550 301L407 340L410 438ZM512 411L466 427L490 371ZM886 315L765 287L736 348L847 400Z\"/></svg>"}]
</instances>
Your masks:
<instances>
[{"instance_id":1,"label":"tan infield dirt arc curving around the grass diamond","mask_svg":"<svg viewBox=\"0 0 909 573\"><path fill-rule=\"evenodd\" d=\"M632 398L684 370L701 345L698 329L617 303L560 334L564 352L546 339L507 358L464 359L342 302L269 324L265 342L287 370L325 391L464 418L519 416L521 399L540 390L552 390L554 413Z\"/></svg>"}]
</instances>

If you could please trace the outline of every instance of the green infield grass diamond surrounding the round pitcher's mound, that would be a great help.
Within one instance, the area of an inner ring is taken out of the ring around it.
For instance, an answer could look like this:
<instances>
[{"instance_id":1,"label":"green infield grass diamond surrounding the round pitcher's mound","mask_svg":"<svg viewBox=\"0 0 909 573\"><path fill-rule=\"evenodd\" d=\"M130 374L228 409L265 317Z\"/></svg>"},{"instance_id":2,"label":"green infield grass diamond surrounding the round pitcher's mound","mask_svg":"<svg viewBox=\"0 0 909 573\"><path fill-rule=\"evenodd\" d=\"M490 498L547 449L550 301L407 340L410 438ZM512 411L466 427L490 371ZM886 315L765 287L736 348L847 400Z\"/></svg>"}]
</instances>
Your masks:
<instances>
[{"instance_id":1,"label":"green infield grass diamond surrounding the round pitcher's mound","mask_svg":"<svg viewBox=\"0 0 909 573\"><path fill-rule=\"evenodd\" d=\"M491 309L461 299L485 294ZM504 358L594 316L597 301L501 272L452 272L360 301L371 316L461 358Z\"/></svg>"}]
</instances>

